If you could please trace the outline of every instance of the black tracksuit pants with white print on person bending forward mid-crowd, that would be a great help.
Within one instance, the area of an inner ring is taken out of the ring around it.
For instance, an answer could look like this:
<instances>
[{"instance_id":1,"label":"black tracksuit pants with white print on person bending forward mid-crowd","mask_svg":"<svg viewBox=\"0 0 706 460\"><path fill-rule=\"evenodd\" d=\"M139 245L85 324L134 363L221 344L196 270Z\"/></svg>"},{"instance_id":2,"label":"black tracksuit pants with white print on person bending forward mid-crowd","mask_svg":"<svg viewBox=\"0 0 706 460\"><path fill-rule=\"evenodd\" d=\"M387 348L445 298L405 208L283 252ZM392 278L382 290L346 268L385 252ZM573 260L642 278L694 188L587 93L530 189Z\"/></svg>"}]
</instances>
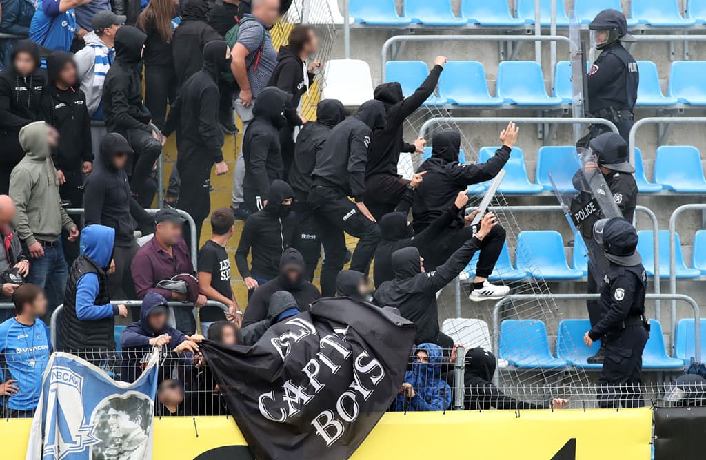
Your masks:
<instances>
[{"instance_id":1,"label":"black tracksuit pants with white print on person bending forward mid-crowd","mask_svg":"<svg viewBox=\"0 0 706 460\"><path fill-rule=\"evenodd\" d=\"M308 204L316 218L325 255L321 267L321 295L333 297L336 277L343 269L347 253L344 232L359 238L350 270L367 275L380 241L380 229L361 214L355 203L338 188L314 186L309 193Z\"/></svg>"}]
</instances>

